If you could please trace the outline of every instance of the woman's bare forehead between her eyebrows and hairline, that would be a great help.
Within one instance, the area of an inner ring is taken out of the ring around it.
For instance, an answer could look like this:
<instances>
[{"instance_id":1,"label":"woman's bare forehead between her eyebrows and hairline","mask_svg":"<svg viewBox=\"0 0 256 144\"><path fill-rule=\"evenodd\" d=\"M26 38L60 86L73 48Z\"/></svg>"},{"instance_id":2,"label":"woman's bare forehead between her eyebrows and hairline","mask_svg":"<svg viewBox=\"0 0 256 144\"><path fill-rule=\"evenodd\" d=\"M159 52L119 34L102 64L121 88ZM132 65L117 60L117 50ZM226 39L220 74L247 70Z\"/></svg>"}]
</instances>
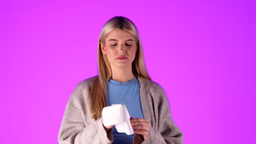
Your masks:
<instances>
[{"instance_id":1,"label":"woman's bare forehead between her eyebrows and hairline","mask_svg":"<svg viewBox=\"0 0 256 144\"><path fill-rule=\"evenodd\" d=\"M119 41L125 41L127 39L135 40L129 32L124 31L124 30L119 29L119 28L114 29L112 32L110 32L107 35L106 41L108 41L109 39L117 39Z\"/></svg>"}]
</instances>

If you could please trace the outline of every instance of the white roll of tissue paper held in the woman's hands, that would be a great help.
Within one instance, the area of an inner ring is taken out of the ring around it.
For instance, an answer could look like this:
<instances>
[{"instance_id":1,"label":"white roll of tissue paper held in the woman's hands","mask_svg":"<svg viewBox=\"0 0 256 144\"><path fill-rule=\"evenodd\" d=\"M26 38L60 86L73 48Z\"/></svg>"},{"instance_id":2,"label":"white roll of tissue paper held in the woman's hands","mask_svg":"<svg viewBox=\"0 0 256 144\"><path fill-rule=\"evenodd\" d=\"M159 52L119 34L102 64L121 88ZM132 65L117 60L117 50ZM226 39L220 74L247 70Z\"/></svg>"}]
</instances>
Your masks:
<instances>
[{"instance_id":1,"label":"white roll of tissue paper held in the woman's hands","mask_svg":"<svg viewBox=\"0 0 256 144\"><path fill-rule=\"evenodd\" d=\"M102 120L105 126L115 125L118 133L133 134L130 122L130 115L125 105L117 104L104 107L102 110Z\"/></svg>"}]
</instances>

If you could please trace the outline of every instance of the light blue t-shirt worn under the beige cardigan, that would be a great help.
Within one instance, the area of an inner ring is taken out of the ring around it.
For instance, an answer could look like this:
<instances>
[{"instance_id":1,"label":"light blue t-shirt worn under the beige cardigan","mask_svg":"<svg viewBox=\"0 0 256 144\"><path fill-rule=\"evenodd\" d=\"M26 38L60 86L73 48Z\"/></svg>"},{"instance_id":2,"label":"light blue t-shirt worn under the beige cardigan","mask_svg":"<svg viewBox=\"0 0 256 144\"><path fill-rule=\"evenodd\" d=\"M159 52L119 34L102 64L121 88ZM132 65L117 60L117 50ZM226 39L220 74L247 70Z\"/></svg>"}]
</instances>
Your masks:
<instances>
[{"instance_id":1,"label":"light blue t-shirt worn under the beige cardigan","mask_svg":"<svg viewBox=\"0 0 256 144\"><path fill-rule=\"evenodd\" d=\"M123 104L126 106L129 114L133 118L144 118L141 96L139 94L140 85L136 77L128 82L118 82L109 80L108 87L108 105ZM126 135L125 133L118 133L117 129L113 127L113 137L115 143L132 143L132 135Z\"/></svg>"}]
</instances>

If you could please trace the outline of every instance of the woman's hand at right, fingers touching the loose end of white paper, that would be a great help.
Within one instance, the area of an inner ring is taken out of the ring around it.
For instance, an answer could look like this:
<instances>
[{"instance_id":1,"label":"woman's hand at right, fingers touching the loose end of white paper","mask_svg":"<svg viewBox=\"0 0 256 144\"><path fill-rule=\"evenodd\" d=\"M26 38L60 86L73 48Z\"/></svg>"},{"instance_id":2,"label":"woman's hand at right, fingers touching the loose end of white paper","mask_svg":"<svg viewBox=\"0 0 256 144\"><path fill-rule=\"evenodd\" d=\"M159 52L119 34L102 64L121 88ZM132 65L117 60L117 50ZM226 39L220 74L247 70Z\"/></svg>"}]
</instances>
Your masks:
<instances>
[{"instance_id":1,"label":"woman's hand at right, fingers touching the loose end of white paper","mask_svg":"<svg viewBox=\"0 0 256 144\"><path fill-rule=\"evenodd\" d=\"M147 119L131 117L130 122L132 128L135 129L135 133L142 135L143 139L146 140L151 129L151 124L147 121Z\"/></svg>"}]
</instances>

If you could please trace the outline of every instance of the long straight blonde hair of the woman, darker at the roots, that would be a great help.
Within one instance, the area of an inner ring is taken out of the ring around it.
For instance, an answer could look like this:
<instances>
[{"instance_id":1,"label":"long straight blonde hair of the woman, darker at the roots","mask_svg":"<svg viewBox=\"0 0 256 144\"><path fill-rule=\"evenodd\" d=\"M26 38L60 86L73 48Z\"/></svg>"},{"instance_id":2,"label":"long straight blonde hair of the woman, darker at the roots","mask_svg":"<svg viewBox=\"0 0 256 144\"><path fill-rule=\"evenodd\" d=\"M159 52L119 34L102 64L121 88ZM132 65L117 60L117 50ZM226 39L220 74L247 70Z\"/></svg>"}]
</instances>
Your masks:
<instances>
[{"instance_id":1,"label":"long straight blonde hair of the woman, darker at the roots","mask_svg":"<svg viewBox=\"0 0 256 144\"><path fill-rule=\"evenodd\" d=\"M150 79L146 64L144 61L141 38L135 24L123 16L115 16L108 20L101 29L100 39L98 41L98 79L94 86L91 87L89 93L90 113L92 118L101 117L103 107L107 106L107 82L112 76L112 70L108 62L107 56L101 51L101 43L104 45L107 35L114 29L122 29L129 32L137 42L137 51L135 59L132 62L132 73L136 77L142 76Z\"/></svg>"}]
</instances>

